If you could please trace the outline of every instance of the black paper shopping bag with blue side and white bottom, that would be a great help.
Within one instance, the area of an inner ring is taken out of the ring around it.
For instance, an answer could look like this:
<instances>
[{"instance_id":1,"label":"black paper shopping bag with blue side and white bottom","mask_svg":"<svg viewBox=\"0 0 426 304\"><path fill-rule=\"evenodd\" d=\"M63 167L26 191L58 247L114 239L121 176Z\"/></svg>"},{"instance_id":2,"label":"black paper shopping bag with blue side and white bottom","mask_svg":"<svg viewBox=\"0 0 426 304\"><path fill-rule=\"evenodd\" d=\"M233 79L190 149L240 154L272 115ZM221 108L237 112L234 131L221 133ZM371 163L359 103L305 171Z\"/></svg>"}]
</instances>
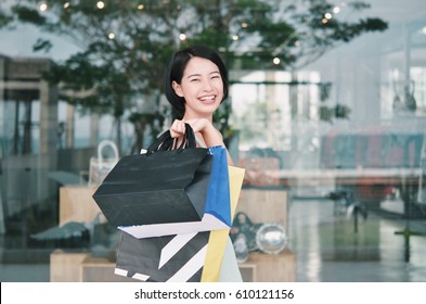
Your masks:
<instances>
[{"instance_id":1,"label":"black paper shopping bag with blue side and white bottom","mask_svg":"<svg viewBox=\"0 0 426 304\"><path fill-rule=\"evenodd\" d=\"M146 154L124 156L93 194L106 219L137 238L231 227L227 152L194 148L186 125L185 147L172 148L166 131Z\"/></svg>"}]
</instances>

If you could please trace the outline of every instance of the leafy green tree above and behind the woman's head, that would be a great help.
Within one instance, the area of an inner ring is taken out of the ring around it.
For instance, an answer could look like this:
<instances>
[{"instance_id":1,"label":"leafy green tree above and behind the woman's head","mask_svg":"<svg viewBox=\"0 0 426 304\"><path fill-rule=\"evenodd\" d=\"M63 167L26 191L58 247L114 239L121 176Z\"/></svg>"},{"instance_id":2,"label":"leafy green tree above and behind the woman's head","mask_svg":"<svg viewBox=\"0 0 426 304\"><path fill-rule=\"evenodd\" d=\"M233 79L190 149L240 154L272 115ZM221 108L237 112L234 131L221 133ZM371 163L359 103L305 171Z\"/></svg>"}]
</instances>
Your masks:
<instances>
[{"instance_id":1,"label":"leafy green tree above and behind the woman's head","mask_svg":"<svg viewBox=\"0 0 426 304\"><path fill-rule=\"evenodd\" d=\"M230 68L294 69L338 43L387 28L380 18L339 17L326 0L293 2L21 0L10 14L0 15L0 26L31 23L70 38L80 51L57 62L47 77L64 90L92 92L74 94L68 102L113 115L119 147L121 121L130 117L140 145L144 128L150 125L155 135L159 128L153 126L167 115L160 107L163 74L171 53L182 46L208 45L222 53ZM352 2L339 9L367 8ZM43 38L34 46L35 51L50 48ZM141 110L150 103L150 113ZM229 112L220 115L222 128L228 128Z\"/></svg>"}]
</instances>

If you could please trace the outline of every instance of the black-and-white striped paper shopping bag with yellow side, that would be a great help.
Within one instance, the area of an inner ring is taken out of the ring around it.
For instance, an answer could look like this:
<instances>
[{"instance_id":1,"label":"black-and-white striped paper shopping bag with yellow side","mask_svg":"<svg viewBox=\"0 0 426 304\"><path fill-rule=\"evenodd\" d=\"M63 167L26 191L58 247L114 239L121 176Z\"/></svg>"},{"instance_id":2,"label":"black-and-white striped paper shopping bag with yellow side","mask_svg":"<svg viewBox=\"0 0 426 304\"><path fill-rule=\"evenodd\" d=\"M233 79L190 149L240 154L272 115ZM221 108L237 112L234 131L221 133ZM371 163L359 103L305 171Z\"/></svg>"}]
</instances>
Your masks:
<instances>
[{"instance_id":1,"label":"black-and-white striped paper shopping bag with yellow side","mask_svg":"<svg viewBox=\"0 0 426 304\"><path fill-rule=\"evenodd\" d=\"M235 213L244 169L229 167ZM122 233L115 274L142 281L217 281L229 229L137 239Z\"/></svg>"}]
</instances>

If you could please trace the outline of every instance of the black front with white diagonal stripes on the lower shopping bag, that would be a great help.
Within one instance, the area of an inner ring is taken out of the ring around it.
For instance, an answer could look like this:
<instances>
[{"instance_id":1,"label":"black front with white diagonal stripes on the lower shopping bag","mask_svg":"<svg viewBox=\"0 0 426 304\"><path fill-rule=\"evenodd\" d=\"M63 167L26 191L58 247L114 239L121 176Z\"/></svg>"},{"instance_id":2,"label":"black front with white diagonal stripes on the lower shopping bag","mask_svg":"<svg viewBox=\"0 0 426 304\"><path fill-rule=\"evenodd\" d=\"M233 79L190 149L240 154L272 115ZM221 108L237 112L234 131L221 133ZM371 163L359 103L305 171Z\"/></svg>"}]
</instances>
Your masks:
<instances>
[{"instance_id":1,"label":"black front with white diagonal stripes on the lower shopping bag","mask_svg":"<svg viewBox=\"0 0 426 304\"><path fill-rule=\"evenodd\" d=\"M121 233L115 274L141 281L199 282L210 232L137 239Z\"/></svg>"}]
</instances>

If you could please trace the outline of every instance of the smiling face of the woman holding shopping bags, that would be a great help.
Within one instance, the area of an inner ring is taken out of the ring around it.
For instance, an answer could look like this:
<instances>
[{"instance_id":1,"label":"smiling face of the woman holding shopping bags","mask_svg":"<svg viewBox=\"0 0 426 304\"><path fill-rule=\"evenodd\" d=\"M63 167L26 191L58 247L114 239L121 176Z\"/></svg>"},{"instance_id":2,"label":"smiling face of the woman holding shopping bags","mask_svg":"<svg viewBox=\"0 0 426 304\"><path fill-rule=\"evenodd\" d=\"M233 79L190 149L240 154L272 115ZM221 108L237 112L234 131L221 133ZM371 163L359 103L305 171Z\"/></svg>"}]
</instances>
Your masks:
<instances>
[{"instance_id":1,"label":"smiling face of the woman holding shopping bags","mask_svg":"<svg viewBox=\"0 0 426 304\"><path fill-rule=\"evenodd\" d=\"M192 58L183 71L181 84L173 81L172 86L175 92L185 99L185 119L211 119L223 99L223 80L219 68L207 59Z\"/></svg>"}]
</instances>

